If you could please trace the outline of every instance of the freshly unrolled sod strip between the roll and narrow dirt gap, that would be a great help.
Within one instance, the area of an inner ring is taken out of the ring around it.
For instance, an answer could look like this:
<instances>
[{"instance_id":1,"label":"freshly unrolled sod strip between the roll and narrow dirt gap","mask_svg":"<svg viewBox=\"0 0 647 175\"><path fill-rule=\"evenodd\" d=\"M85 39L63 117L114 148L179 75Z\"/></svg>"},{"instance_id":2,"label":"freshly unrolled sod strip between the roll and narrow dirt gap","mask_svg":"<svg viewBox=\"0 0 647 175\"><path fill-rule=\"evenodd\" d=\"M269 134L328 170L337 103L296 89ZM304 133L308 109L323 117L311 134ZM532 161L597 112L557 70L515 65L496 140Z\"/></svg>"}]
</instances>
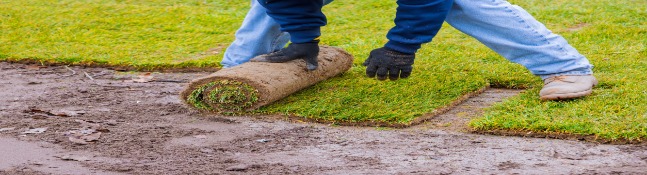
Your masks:
<instances>
[{"instance_id":1,"label":"freshly unrolled sod strip between the roll and narrow dirt gap","mask_svg":"<svg viewBox=\"0 0 647 175\"><path fill-rule=\"evenodd\" d=\"M464 83L468 79L475 81ZM363 67L356 67L260 110L296 116L304 121L406 127L486 86L487 81L478 79L478 75L460 73L378 81L366 78Z\"/></svg>"}]
</instances>

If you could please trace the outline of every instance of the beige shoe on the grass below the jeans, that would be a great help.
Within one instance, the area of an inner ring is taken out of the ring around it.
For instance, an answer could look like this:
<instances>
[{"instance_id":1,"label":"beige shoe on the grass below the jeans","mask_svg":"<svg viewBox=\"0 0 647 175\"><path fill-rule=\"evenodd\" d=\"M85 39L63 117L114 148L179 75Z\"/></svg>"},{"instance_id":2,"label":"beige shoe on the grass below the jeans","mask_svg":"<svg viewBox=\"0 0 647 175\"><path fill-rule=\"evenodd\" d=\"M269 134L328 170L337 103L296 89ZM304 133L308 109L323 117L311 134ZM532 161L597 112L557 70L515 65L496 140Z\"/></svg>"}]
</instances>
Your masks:
<instances>
[{"instance_id":1,"label":"beige shoe on the grass below the jeans","mask_svg":"<svg viewBox=\"0 0 647 175\"><path fill-rule=\"evenodd\" d=\"M560 75L544 80L544 88L539 91L541 100L564 100L591 94L598 80L593 75Z\"/></svg>"}]
</instances>

